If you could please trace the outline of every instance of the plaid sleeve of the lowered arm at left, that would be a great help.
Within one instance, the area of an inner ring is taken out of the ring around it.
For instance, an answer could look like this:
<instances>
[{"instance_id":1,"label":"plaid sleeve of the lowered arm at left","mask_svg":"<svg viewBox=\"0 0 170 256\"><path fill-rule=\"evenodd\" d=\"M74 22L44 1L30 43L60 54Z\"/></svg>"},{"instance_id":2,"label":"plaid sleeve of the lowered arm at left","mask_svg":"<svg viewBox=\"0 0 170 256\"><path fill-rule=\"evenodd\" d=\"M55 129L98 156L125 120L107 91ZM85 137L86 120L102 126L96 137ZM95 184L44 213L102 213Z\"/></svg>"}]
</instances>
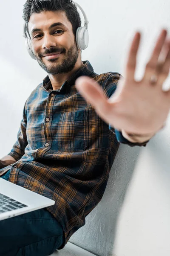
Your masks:
<instances>
[{"instance_id":1,"label":"plaid sleeve of the lowered arm at left","mask_svg":"<svg viewBox=\"0 0 170 256\"><path fill-rule=\"evenodd\" d=\"M16 161L20 160L20 158L25 154L25 148L28 145L27 136L26 136L26 125L27 125L27 117L26 117L26 103L23 109L23 119L20 123L20 128L17 134L17 141L13 145L11 152L8 154L11 157L14 157Z\"/></svg>"}]
</instances>

